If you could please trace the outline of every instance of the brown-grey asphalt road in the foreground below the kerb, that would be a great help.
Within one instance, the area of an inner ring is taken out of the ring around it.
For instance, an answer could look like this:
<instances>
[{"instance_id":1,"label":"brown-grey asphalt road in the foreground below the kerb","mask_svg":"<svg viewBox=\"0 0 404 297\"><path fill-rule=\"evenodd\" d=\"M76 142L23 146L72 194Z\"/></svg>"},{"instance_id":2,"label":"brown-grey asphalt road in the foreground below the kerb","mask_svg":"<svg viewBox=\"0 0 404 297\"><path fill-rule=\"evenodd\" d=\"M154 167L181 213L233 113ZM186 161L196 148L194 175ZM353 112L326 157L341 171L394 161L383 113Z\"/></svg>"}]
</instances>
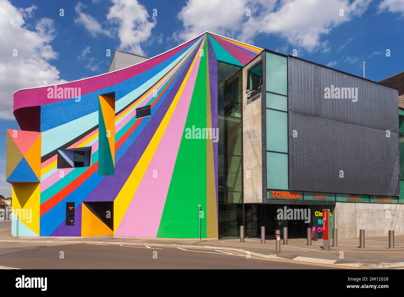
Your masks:
<instances>
[{"instance_id":1,"label":"brown-grey asphalt road in the foreground below the kerb","mask_svg":"<svg viewBox=\"0 0 404 297\"><path fill-rule=\"evenodd\" d=\"M247 259L231 251L23 242L0 243L0 265L20 269L333 269L322 264Z\"/></svg>"}]
</instances>

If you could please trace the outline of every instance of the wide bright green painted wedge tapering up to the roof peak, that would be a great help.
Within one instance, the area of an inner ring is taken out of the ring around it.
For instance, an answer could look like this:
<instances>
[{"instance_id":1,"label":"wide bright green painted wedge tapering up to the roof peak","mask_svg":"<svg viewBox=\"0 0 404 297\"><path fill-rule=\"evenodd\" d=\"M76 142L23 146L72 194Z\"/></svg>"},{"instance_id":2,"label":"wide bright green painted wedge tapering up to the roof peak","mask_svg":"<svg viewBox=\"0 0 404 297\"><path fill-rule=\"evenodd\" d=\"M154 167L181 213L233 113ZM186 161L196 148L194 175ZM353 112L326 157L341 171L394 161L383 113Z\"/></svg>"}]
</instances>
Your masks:
<instances>
[{"instance_id":1,"label":"wide bright green painted wedge tapering up to the roof peak","mask_svg":"<svg viewBox=\"0 0 404 297\"><path fill-rule=\"evenodd\" d=\"M206 128L206 57L201 58L184 129ZM198 238L198 204L206 214L206 139L186 139L183 133L157 237ZM201 236L206 237L206 215Z\"/></svg>"}]
</instances>

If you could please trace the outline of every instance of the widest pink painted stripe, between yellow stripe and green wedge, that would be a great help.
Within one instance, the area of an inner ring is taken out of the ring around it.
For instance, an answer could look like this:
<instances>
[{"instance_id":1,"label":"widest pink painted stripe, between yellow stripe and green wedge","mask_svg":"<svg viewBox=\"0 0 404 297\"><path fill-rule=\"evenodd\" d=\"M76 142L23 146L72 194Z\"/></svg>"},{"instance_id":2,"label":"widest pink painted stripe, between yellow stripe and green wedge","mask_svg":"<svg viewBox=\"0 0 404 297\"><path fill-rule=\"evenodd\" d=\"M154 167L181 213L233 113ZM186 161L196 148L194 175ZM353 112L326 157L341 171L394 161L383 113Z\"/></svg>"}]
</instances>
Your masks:
<instances>
[{"instance_id":1,"label":"widest pink painted stripe, between yellow stripe and green wedge","mask_svg":"<svg viewBox=\"0 0 404 297\"><path fill-rule=\"evenodd\" d=\"M203 44L204 41L202 42L202 48ZM175 160L177 159L179 145L187 120L200 59L201 57L197 55L194 68L191 70L173 116L115 232L116 236L157 236L168 188L170 187L173 175ZM157 179L153 177L154 170L157 171ZM158 187L156 187L156 182L159 183Z\"/></svg>"}]
</instances>

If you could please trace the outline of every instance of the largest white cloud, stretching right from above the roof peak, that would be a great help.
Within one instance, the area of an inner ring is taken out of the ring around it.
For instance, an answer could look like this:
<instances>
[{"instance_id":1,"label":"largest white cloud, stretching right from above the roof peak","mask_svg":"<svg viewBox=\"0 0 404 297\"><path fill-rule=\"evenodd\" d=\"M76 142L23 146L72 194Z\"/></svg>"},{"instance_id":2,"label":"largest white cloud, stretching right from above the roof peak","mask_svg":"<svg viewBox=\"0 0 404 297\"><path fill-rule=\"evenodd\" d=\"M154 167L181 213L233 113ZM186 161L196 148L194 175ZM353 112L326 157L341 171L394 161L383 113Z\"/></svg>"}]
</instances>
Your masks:
<instances>
[{"instance_id":1,"label":"largest white cloud, stretching right from above the roof peak","mask_svg":"<svg viewBox=\"0 0 404 297\"><path fill-rule=\"evenodd\" d=\"M370 1L189 0L177 16L183 29L175 36L189 40L207 30L252 43L257 34L277 34L294 48L327 52L329 42L322 37L352 17L360 17ZM247 8L250 17L246 16Z\"/></svg>"}]
</instances>

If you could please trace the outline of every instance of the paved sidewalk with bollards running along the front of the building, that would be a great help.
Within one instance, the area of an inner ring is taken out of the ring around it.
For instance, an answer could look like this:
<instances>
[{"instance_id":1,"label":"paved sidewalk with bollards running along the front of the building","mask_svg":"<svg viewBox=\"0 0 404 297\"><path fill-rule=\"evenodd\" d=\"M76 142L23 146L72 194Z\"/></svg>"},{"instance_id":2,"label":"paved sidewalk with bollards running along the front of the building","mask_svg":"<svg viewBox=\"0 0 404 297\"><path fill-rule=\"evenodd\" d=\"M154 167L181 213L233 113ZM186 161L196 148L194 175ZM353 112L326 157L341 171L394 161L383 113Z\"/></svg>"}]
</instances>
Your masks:
<instances>
[{"instance_id":1,"label":"paved sidewalk with bollards running along the front of the building","mask_svg":"<svg viewBox=\"0 0 404 297\"><path fill-rule=\"evenodd\" d=\"M281 253L275 253L275 240L261 244L259 238L226 240L186 240L186 239L142 239L113 238L99 236L90 238L40 237L15 238L9 228L0 228L0 242L54 242L54 243L103 243L132 244L149 246L168 246L196 249L220 249L248 253L259 257L289 259L309 263L337 264L360 268L398 268L404 267L404 236L395 236L395 249L388 249L388 236L366 238L365 249L359 248L359 238L339 239L338 247L331 251L322 250L322 240L312 241L307 246L304 238L288 239L288 245L281 240Z\"/></svg>"}]
</instances>

